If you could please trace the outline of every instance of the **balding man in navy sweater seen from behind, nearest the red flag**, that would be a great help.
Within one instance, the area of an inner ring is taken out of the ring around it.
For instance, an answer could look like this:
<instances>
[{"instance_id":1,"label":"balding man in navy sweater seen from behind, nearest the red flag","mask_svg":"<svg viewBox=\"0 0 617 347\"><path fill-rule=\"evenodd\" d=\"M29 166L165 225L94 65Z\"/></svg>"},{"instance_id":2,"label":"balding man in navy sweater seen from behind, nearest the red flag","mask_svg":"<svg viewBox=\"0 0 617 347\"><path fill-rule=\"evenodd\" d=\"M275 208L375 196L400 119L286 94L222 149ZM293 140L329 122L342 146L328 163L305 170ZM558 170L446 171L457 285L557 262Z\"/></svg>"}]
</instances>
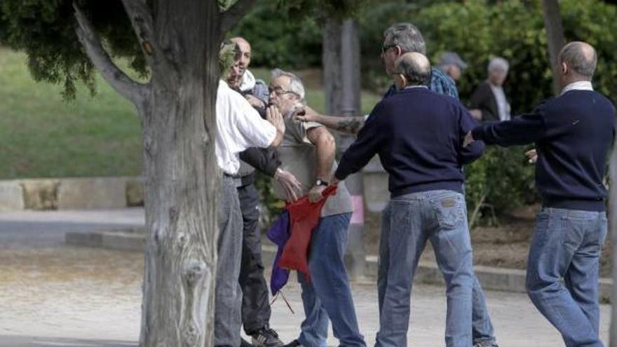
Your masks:
<instances>
[{"instance_id":1,"label":"balding man in navy sweater seen from behind, nearest the red flag","mask_svg":"<svg viewBox=\"0 0 617 347\"><path fill-rule=\"evenodd\" d=\"M387 285L376 346L407 346L414 271L430 240L447 285L446 345L472 345L473 268L463 196L462 165L484 145L463 147L477 123L460 102L426 87L430 62L421 53L398 59L400 92L373 109L358 139L341 157L333 182L357 172L375 155L391 192Z\"/></svg>"}]
</instances>

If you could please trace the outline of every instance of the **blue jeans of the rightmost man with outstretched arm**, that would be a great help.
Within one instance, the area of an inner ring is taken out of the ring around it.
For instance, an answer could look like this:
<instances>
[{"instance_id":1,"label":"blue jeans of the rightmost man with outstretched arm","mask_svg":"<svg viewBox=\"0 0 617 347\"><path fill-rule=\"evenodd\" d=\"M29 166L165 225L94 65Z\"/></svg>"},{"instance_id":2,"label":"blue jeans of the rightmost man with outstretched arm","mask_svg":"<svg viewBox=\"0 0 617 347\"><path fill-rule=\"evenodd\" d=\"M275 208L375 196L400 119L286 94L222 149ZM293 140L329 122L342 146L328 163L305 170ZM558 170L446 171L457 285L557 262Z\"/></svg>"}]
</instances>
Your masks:
<instances>
[{"instance_id":1,"label":"blue jeans of the rightmost man with outstretched arm","mask_svg":"<svg viewBox=\"0 0 617 347\"><path fill-rule=\"evenodd\" d=\"M537 216L525 285L566 346L603 346L598 337L598 259L606 228L605 212L543 208Z\"/></svg>"}]
</instances>

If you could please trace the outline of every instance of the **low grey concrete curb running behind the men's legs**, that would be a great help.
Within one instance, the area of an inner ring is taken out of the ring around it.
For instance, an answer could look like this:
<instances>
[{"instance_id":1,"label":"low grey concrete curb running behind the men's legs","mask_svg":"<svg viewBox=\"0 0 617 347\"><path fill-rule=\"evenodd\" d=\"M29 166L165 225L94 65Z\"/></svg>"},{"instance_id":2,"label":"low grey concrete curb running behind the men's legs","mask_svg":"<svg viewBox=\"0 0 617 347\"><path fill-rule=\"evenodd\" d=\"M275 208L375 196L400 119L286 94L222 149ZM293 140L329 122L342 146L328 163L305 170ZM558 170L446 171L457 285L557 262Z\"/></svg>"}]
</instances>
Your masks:
<instances>
[{"instance_id":1,"label":"low grey concrete curb running behind the men's legs","mask_svg":"<svg viewBox=\"0 0 617 347\"><path fill-rule=\"evenodd\" d=\"M129 229L124 231L100 231L95 233L67 233L66 242L72 245L88 247L103 247L113 250L132 250L143 252L145 247L144 229ZM262 259L266 268L270 268L276 257L276 246L262 245ZM377 256L366 257L366 279L377 280ZM512 268L494 268L491 266L475 266L475 275L484 290L499 290L503 292L525 292L525 271ZM414 281L443 285L442 273L437 264L421 261L416 269ZM610 302L613 280L600 278L599 297L602 302Z\"/></svg>"}]
</instances>

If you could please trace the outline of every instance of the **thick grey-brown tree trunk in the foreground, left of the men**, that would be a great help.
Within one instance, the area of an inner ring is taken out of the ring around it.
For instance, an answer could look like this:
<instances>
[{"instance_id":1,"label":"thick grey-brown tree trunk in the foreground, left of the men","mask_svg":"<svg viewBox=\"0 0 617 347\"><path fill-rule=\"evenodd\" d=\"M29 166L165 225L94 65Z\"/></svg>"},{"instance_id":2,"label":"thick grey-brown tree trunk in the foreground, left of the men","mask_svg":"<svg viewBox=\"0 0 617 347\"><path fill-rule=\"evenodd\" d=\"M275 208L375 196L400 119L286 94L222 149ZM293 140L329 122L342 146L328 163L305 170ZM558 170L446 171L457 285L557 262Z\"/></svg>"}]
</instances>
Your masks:
<instances>
[{"instance_id":1,"label":"thick grey-brown tree trunk in the foreground, left of the men","mask_svg":"<svg viewBox=\"0 0 617 347\"><path fill-rule=\"evenodd\" d=\"M212 346L217 264L217 1L158 1L143 119L147 242L140 346Z\"/></svg>"}]
</instances>

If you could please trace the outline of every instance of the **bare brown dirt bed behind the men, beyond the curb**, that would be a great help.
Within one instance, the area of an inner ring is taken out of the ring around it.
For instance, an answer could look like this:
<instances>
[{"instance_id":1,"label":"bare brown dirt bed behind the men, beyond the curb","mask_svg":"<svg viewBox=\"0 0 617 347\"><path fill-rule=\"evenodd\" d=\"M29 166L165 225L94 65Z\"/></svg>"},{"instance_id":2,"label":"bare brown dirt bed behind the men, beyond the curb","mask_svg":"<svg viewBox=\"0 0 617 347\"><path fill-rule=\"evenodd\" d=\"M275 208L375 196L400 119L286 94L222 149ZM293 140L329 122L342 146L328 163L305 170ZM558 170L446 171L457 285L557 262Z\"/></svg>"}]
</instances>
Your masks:
<instances>
[{"instance_id":1,"label":"bare brown dirt bed behind the men, beyond the curb","mask_svg":"<svg viewBox=\"0 0 617 347\"><path fill-rule=\"evenodd\" d=\"M534 233L534 222L539 205L521 207L499 220L498 226L478 226L471 231L475 265L501 268L527 268L529 241ZM365 216L365 245L369 254L379 250L379 213ZM606 238L600 258L600 277L611 277L611 238ZM423 260L435 259L430 244L422 254Z\"/></svg>"}]
</instances>

